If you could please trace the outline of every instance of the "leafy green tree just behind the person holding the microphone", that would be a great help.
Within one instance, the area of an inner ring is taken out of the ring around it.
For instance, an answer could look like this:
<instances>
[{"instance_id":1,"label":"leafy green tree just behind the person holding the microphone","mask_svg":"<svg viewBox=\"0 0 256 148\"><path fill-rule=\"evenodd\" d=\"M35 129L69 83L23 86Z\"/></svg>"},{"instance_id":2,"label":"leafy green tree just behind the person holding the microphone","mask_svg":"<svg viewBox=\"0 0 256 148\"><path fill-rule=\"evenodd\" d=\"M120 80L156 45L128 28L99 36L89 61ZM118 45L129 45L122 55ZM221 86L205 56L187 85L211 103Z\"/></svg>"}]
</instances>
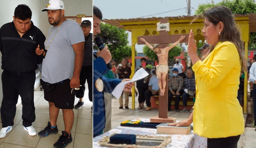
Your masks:
<instances>
[{"instance_id":1,"label":"leafy green tree just behind the person holding the microphone","mask_svg":"<svg viewBox=\"0 0 256 148\"><path fill-rule=\"evenodd\" d=\"M111 52L112 59L121 61L123 57L132 56L132 47L127 45L128 33L116 26L110 24L100 24L101 34L104 45L108 46ZM97 49L96 43L94 43L94 49Z\"/></svg>"}]
</instances>

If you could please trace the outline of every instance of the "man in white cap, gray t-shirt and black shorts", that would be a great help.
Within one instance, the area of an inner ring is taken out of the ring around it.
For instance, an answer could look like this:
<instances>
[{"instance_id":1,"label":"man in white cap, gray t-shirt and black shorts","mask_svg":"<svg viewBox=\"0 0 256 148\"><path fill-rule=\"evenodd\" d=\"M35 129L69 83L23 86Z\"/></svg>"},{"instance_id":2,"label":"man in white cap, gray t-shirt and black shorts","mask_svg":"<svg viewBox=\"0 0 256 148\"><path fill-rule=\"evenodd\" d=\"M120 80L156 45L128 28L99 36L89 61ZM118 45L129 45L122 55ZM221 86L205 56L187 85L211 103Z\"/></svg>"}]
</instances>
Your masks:
<instances>
[{"instance_id":1,"label":"man in white cap, gray t-shirt and black shorts","mask_svg":"<svg viewBox=\"0 0 256 148\"><path fill-rule=\"evenodd\" d=\"M71 129L74 122L74 89L80 87L80 71L84 57L84 34L80 25L66 20L64 3L49 0L47 8L49 23L52 25L44 42L41 85L44 99L49 102L50 122L40 131L40 137L57 134L56 125L60 109L63 112L65 131L54 147L65 147L72 142ZM46 52L47 51L47 52Z\"/></svg>"}]
</instances>

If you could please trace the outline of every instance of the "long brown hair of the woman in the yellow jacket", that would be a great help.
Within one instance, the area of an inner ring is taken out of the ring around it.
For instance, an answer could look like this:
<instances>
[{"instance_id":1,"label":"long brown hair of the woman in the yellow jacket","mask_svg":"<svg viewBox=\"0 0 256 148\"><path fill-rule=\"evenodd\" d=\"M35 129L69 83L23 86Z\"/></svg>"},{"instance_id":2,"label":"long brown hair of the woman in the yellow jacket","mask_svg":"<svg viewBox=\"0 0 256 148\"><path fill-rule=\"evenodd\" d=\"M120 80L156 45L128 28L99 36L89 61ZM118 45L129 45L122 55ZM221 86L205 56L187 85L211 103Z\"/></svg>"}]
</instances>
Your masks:
<instances>
[{"instance_id":1,"label":"long brown hair of the woman in the yellow jacket","mask_svg":"<svg viewBox=\"0 0 256 148\"><path fill-rule=\"evenodd\" d=\"M220 33L219 39L220 41L230 41L236 45L238 50L240 61L242 63L242 71L247 71L247 61L244 56L244 43L240 39L240 32L236 27L236 23L234 20L234 16L230 10L226 6L215 6L204 10L203 17L207 18L209 22L212 22L214 26L216 26L219 22L223 22L224 28ZM210 51L213 50L214 47L210 46Z\"/></svg>"}]
</instances>

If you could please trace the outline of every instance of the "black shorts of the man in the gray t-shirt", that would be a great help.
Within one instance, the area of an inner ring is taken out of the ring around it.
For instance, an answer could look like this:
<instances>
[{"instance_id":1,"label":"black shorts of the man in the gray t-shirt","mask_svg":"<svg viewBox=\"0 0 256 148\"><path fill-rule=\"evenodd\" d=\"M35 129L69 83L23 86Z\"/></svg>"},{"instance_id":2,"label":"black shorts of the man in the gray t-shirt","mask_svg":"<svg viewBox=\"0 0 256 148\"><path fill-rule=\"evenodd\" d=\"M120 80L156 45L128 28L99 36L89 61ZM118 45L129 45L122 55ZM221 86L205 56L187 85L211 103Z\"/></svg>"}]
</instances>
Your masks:
<instances>
[{"instance_id":1,"label":"black shorts of the man in the gray t-shirt","mask_svg":"<svg viewBox=\"0 0 256 148\"><path fill-rule=\"evenodd\" d=\"M54 84L44 82L40 79L44 89L44 99L54 103L59 109L74 109L75 94L71 94L70 79L66 79Z\"/></svg>"}]
</instances>

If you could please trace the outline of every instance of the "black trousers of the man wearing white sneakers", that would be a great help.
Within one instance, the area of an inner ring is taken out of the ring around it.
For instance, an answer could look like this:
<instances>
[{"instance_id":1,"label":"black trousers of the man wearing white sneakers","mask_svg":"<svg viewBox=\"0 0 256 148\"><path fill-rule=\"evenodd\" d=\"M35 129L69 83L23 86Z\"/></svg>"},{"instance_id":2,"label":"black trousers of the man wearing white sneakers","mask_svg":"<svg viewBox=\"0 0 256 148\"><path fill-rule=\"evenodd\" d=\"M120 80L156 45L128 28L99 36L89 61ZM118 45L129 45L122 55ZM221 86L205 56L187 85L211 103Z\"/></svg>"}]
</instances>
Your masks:
<instances>
[{"instance_id":1,"label":"black trousers of the man wearing white sneakers","mask_svg":"<svg viewBox=\"0 0 256 148\"><path fill-rule=\"evenodd\" d=\"M31 126L36 119L34 107L34 84L36 80L35 71L27 73L10 73L3 71L2 87L3 101L1 106L2 127L13 126L16 113L18 97L22 103L22 124Z\"/></svg>"}]
</instances>

